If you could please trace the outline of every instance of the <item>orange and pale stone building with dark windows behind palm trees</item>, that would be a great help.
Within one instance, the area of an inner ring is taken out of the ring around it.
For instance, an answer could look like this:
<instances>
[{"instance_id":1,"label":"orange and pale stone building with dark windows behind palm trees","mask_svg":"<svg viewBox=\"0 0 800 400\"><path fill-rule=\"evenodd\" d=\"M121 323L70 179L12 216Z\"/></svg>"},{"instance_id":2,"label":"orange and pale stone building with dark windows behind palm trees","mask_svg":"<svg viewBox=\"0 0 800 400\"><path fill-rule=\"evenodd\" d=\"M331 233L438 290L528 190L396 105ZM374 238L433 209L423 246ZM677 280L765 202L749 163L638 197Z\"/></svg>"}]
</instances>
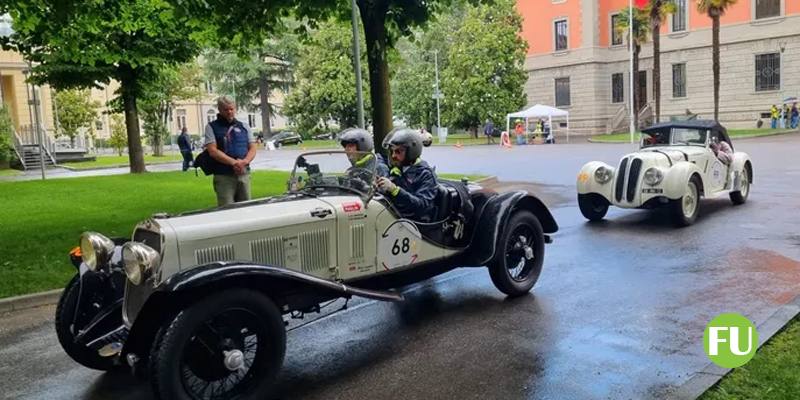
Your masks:
<instances>
[{"instance_id":1,"label":"orange and pale stone building with dark windows behind palm trees","mask_svg":"<svg viewBox=\"0 0 800 400\"><path fill-rule=\"evenodd\" d=\"M661 27L661 120L713 118L711 19L697 0L674 0ZM630 53L613 29L629 0L518 0L528 41L529 104L570 111L573 133L628 129ZM721 19L720 121L755 127L781 99L800 95L800 0L739 0ZM782 66L787 68L781 68ZM642 45L640 119L654 120L652 41ZM768 122L768 121L767 121Z\"/></svg>"}]
</instances>

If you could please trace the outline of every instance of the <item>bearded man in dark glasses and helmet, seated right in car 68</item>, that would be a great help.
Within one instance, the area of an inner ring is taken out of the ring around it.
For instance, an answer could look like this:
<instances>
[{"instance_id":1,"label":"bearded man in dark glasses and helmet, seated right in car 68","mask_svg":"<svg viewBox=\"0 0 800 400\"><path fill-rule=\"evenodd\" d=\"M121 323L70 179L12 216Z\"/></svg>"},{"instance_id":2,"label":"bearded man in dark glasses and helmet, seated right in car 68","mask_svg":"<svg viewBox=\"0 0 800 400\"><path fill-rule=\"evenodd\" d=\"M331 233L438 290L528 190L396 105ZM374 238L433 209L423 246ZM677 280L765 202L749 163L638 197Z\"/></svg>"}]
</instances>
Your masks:
<instances>
[{"instance_id":1,"label":"bearded man in dark glasses and helmet, seated right in car 68","mask_svg":"<svg viewBox=\"0 0 800 400\"><path fill-rule=\"evenodd\" d=\"M436 215L436 174L423 161L422 136L410 129L392 133L389 139L391 170L389 177L378 178L378 190L403 218L431 221Z\"/></svg>"}]
</instances>

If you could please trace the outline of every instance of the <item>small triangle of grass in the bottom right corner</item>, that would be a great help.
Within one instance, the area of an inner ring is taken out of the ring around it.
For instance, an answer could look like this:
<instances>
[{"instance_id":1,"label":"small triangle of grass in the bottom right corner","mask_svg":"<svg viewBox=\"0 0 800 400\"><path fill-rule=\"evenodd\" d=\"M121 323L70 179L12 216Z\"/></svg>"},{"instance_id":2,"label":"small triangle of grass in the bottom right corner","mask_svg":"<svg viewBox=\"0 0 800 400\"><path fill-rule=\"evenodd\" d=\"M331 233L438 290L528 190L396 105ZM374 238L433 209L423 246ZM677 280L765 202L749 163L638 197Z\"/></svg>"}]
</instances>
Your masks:
<instances>
[{"instance_id":1,"label":"small triangle of grass in the bottom right corner","mask_svg":"<svg viewBox=\"0 0 800 400\"><path fill-rule=\"evenodd\" d=\"M800 394L800 317L776 334L749 363L734 369L701 400L796 399Z\"/></svg>"}]
</instances>

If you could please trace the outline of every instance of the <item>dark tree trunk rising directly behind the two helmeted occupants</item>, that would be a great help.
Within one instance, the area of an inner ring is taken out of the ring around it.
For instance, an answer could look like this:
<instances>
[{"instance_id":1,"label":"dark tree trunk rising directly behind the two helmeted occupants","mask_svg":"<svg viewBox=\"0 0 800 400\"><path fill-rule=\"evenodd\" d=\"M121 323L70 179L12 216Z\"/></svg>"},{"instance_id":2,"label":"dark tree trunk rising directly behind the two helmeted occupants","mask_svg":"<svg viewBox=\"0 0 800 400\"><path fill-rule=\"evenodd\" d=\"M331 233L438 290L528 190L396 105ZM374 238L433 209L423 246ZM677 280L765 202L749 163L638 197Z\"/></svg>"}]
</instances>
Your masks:
<instances>
[{"instance_id":1,"label":"dark tree trunk rising directly behind the two helmeted occupants","mask_svg":"<svg viewBox=\"0 0 800 400\"><path fill-rule=\"evenodd\" d=\"M389 87L389 64L386 60L386 0L359 0L364 37L367 42L372 135L382 143L392 130L392 93ZM378 150L385 152L382 146Z\"/></svg>"}]
</instances>

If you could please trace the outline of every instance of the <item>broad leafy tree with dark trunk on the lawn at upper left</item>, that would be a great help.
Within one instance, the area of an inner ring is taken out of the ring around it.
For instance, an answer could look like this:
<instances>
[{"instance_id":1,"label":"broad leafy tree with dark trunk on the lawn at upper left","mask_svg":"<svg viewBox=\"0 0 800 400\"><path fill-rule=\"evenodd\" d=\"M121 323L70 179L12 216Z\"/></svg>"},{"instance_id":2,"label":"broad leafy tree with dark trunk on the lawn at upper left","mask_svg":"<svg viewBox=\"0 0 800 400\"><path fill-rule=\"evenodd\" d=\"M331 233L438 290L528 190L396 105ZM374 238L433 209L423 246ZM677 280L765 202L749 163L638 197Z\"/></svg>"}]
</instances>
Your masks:
<instances>
[{"instance_id":1,"label":"broad leafy tree with dark trunk on the lawn at upper left","mask_svg":"<svg viewBox=\"0 0 800 400\"><path fill-rule=\"evenodd\" d=\"M5 48L34 62L32 80L57 89L120 82L131 172L144 172L137 102L164 65L199 54L205 28L166 0L5 0L15 33Z\"/></svg>"}]
</instances>

